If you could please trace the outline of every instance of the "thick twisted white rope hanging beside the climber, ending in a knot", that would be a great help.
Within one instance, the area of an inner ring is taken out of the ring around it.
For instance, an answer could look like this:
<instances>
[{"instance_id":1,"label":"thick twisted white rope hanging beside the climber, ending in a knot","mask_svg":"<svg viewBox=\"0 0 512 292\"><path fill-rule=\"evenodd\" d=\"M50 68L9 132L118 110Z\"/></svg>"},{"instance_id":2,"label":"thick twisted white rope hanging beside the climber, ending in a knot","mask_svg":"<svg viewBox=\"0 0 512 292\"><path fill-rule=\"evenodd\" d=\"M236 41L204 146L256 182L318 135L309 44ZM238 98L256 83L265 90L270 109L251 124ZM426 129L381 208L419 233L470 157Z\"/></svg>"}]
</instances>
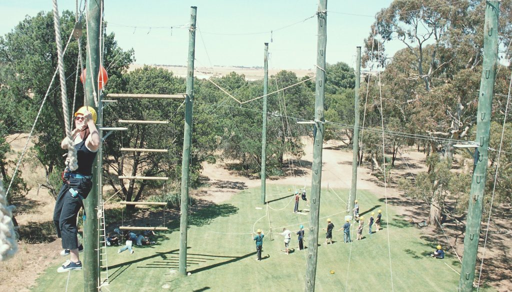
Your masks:
<instances>
[{"instance_id":1,"label":"thick twisted white rope hanging beside the climber, ending in a knot","mask_svg":"<svg viewBox=\"0 0 512 292\"><path fill-rule=\"evenodd\" d=\"M68 149L68 167L72 171L75 171L76 169L78 169L78 161L76 159L76 149L75 144L73 142L73 137L71 135L71 125L69 120L68 97L66 94L66 76L64 75L64 54L62 52L62 38L60 35L60 20L59 11L57 7L57 0L53 0L53 24L55 28L55 43L57 45L57 60L60 76L60 97L62 99L62 114L64 118L64 124L66 127L65 143Z\"/></svg>"}]
</instances>

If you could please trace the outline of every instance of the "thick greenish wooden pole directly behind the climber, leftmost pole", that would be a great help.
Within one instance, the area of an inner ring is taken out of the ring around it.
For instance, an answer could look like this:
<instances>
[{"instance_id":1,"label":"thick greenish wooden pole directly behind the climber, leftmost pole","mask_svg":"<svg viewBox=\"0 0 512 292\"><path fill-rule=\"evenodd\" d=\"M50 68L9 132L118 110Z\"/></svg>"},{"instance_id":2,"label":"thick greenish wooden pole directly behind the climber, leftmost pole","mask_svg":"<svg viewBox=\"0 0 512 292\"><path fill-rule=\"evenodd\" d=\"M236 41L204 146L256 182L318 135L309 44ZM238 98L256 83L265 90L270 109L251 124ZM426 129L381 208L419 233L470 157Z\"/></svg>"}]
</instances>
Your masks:
<instances>
[{"instance_id":1,"label":"thick greenish wooden pole directly behind the climber, leftmost pole","mask_svg":"<svg viewBox=\"0 0 512 292\"><path fill-rule=\"evenodd\" d=\"M95 108L96 112L98 109L94 105L94 91L98 90L98 73L99 73L99 51L100 51L100 2L89 1L87 8L87 33L88 41L88 53L86 54L86 68L88 74L86 74L86 95L87 105ZM92 72L92 74L89 74ZM101 122L101 120L99 120ZM96 155L96 159L100 159ZM98 178L101 175L101 168L98 166L97 161L93 165L93 177ZM83 290L86 292L93 292L98 290L99 285L99 233L98 233L98 220L96 213L98 210L98 191L101 187L99 185L101 180L93 184L91 192L85 200L83 200L83 206L87 214L87 219L83 223Z\"/></svg>"}]
</instances>

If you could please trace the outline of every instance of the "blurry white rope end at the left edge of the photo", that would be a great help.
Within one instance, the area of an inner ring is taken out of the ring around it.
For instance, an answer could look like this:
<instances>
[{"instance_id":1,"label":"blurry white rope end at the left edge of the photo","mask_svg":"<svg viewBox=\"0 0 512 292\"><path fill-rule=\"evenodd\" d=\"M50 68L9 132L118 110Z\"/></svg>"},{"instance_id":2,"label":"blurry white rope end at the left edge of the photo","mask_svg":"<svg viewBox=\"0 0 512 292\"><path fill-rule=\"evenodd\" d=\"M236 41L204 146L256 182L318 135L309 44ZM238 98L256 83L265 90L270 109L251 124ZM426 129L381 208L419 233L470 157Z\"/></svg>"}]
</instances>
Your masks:
<instances>
[{"instance_id":1,"label":"blurry white rope end at the left edge of the photo","mask_svg":"<svg viewBox=\"0 0 512 292\"><path fill-rule=\"evenodd\" d=\"M12 223L13 209L14 206L7 205L4 184L0 180L0 261L11 258L18 250L16 233Z\"/></svg>"}]
</instances>

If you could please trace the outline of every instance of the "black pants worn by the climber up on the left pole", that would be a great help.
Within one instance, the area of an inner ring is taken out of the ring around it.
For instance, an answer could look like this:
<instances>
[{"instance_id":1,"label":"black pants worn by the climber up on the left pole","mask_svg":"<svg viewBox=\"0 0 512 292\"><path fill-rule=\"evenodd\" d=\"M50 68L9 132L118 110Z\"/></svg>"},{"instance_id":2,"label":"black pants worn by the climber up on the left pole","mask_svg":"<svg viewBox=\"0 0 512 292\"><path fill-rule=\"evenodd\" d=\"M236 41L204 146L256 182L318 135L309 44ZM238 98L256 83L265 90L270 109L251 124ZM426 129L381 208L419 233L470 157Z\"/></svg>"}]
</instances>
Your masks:
<instances>
[{"instance_id":1,"label":"black pants worn by the climber up on the left pole","mask_svg":"<svg viewBox=\"0 0 512 292\"><path fill-rule=\"evenodd\" d=\"M70 177L68 183L63 183L60 188L53 211L53 224L57 230L57 237L62 238L62 248L78 248L76 217L83 207L82 198L85 199L89 195L91 187L90 179ZM78 192L82 198L73 197L70 189Z\"/></svg>"}]
</instances>

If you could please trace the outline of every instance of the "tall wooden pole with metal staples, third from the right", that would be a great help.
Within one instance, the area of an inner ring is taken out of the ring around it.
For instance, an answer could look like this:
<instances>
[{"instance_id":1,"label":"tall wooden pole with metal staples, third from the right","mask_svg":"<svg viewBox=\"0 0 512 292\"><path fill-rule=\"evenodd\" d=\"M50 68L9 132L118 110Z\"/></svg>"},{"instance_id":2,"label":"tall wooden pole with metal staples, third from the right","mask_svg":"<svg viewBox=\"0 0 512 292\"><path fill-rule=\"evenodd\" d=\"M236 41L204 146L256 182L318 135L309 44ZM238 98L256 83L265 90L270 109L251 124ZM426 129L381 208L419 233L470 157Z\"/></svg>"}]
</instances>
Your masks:
<instances>
[{"instance_id":1,"label":"tall wooden pole with metal staples, third from the right","mask_svg":"<svg viewBox=\"0 0 512 292\"><path fill-rule=\"evenodd\" d=\"M327 47L327 0L318 3L318 40L316 53L315 125L313 128L313 165L311 173L311 206L308 232L308 259L305 291L315 290L318 254L318 218L322 182L322 147L324 145L325 53Z\"/></svg>"}]
</instances>

